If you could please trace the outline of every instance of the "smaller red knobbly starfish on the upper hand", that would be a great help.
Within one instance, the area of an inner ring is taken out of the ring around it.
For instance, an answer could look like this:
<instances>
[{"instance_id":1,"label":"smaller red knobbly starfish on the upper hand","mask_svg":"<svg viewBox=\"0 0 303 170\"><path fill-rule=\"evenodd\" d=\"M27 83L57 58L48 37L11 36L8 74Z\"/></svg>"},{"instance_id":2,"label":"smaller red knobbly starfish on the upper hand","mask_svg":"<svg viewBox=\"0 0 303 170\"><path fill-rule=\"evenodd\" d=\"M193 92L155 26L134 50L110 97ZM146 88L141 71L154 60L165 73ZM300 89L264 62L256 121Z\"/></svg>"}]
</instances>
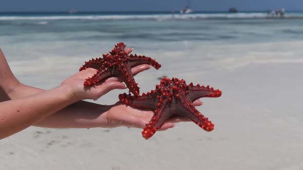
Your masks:
<instances>
[{"instance_id":1,"label":"smaller red knobbly starfish on the upper hand","mask_svg":"<svg viewBox=\"0 0 303 170\"><path fill-rule=\"evenodd\" d=\"M87 78L84 82L84 86L90 87L110 76L118 76L123 79L129 92L138 96L140 94L139 87L131 73L131 68L138 65L148 64L158 70L161 65L154 59L144 55L127 55L124 51L125 47L126 45L123 42L119 42L115 48L109 52L110 54L103 54L103 58L92 58L85 62L85 65L80 68L80 71L87 68L94 68L97 69L98 72L92 77Z\"/></svg>"}]
</instances>

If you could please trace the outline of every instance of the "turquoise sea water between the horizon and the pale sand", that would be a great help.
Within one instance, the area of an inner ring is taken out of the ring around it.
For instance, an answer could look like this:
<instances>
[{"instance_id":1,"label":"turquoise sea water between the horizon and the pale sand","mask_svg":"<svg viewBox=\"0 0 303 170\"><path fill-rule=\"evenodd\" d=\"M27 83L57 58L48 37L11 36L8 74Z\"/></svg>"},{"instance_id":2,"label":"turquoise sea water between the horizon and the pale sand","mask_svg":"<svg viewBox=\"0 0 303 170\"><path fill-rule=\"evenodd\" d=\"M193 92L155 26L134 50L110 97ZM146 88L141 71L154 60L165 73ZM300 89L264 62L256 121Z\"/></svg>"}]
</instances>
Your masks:
<instances>
[{"instance_id":1,"label":"turquoise sea water between the horizon and the pale sand","mask_svg":"<svg viewBox=\"0 0 303 170\"><path fill-rule=\"evenodd\" d=\"M303 13L3 13L0 45L20 42L128 41L136 48L163 49L180 41L198 44L300 40ZM161 45L161 46L157 46Z\"/></svg>"}]
</instances>

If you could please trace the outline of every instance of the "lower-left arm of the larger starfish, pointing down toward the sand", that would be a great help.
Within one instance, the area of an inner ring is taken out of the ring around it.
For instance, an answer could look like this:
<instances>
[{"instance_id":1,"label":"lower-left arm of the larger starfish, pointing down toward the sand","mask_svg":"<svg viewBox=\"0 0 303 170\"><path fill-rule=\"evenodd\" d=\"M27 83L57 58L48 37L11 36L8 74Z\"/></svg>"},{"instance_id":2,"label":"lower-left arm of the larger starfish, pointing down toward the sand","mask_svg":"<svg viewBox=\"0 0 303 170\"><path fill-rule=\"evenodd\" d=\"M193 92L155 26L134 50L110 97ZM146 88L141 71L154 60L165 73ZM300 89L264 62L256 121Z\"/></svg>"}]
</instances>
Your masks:
<instances>
[{"instance_id":1,"label":"lower-left arm of the larger starfish, pointing down toward the sand","mask_svg":"<svg viewBox=\"0 0 303 170\"><path fill-rule=\"evenodd\" d=\"M148 124L146 124L145 128L143 128L142 136L145 139L149 139L151 136L153 136L156 133L156 131L161 128L164 122L170 116L172 116L172 113L169 113L169 106L167 99L160 100L157 105L158 108L155 111L154 116L150 119Z\"/></svg>"}]
</instances>

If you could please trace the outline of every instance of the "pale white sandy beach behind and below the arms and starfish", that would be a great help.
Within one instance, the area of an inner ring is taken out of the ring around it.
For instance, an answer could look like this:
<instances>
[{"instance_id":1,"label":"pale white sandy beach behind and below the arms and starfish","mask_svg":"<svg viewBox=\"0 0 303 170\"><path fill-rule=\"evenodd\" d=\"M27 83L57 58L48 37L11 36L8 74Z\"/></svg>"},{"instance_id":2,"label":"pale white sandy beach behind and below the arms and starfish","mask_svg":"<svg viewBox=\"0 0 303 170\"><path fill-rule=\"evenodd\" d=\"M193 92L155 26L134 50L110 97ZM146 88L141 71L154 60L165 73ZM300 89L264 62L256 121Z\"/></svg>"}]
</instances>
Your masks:
<instances>
[{"instance_id":1,"label":"pale white sandy beach behind and below the arms and starfish","mask_svg":"<svg viewBox=\"0 0 303 170\"><path fill-rule=\"evenodd\" d=\"M154 89L163 75L222 91L197 107L215 124L213 132L186 122L145 140L133 128L31 127L0 141L0 169L303 169L302 47L303 41L185 46L161 55L135 49L162 64L136 76L141 93ZM44 89L58 86L89 58L21 48L24 56L43 57L18 61L14 55L21 52L5 46L13 72ZM124 92L96 102L113 104Z\"/></svg>"}]
</instances>

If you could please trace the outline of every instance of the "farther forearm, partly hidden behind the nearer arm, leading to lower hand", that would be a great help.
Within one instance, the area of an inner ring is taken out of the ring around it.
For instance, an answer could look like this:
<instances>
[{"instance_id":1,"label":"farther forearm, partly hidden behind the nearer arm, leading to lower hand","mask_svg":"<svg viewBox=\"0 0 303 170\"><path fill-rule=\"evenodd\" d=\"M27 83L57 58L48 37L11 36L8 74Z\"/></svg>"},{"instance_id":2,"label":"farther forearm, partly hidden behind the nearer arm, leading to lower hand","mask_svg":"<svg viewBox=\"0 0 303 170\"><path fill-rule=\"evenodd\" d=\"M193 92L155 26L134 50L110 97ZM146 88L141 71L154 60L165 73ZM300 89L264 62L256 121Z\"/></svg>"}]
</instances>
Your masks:
<instances>
[{"instance_id":1,"label":"farther forearm, partly hidden behind the nearer arm, leading to lower hand","mask_svg":"<svg viewBox=\"0 0 303 170\"><path fill-rule=\"evenodd\" d=\"M44 91L20 83L11 72L0 49L0 102L20 99ZM110 125L106 118L109 109L110 107L104 105L79 101L54 114L43 117L42 120L39 119L40 121L33 124L48 128L107 127Z\"/></svg>"}]
</instances>

